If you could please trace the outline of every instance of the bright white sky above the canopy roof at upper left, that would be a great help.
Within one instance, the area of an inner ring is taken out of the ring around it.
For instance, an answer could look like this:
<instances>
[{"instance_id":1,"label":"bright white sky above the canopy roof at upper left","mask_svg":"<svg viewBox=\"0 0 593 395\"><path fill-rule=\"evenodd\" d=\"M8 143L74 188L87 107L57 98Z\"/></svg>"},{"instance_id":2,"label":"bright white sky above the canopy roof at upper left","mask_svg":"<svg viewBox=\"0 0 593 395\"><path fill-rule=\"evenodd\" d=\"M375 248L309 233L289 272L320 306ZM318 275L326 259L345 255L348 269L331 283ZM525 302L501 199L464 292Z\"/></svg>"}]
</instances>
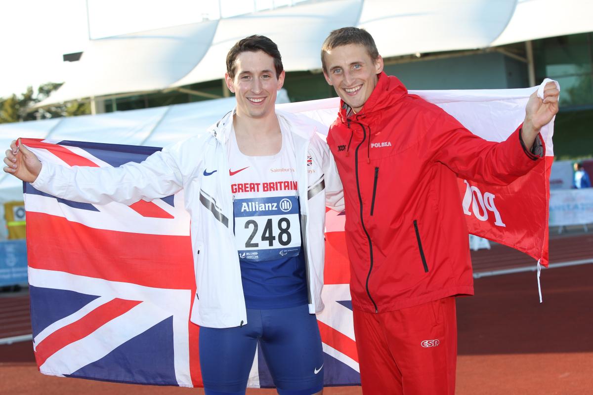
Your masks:
<instances>
[{"instance_id":1,"label":"bright white sky above the canopy roof at upper left","mask_svg":"<svg viewBox=\"0 0 593 395\"><path fill-rule=\"evenodd\" d=\"M0 98L21 94L27 86L66 81L72 65L62 55L84 51L89 37L216 20L221 14L231 17L300 1L0 0Z\"/></svg>"}]
</instances>

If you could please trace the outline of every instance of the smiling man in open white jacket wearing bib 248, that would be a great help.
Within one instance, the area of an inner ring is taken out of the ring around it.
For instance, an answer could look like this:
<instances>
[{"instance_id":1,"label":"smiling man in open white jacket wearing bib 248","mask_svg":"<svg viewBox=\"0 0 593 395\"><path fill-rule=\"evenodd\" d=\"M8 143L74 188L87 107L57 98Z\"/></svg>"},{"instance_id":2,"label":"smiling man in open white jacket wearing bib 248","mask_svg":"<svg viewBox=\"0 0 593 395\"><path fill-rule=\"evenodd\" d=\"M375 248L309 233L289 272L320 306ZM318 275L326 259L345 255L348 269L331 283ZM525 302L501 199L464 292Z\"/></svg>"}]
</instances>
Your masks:
<instances>
[{"instance_id":1,"label":"smiling man in open white jacket wearing bib 248","mask_svg":"<svg viewBox=\"0 0 593 395\"><path fill-rule=\"evenodd\" d=\"M132 204L184 190L206 394L244 394L258 343L280 394L323 391L314 314L326 204L342 207L342 184L313 121L275 111L284 77L276 44L250 36L227 56L237 107L209 130L119 168L42 165L17 142L4 159L5 172L72 201Z\"/></svg>"}]
</instances>

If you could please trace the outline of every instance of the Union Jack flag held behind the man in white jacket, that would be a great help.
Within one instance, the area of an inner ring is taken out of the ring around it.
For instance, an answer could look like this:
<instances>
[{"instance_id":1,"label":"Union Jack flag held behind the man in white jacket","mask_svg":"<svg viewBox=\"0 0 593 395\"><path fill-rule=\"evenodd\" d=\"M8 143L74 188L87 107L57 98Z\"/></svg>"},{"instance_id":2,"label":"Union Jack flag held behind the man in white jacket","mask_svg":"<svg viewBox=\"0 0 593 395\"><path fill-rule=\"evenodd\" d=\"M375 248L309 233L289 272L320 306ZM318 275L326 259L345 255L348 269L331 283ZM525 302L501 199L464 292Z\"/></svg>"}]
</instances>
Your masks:
<instances>
[{"instance_id":1,"label":"Union Jack flag held behind the man in white jacket","mask_svg":"<svg viewBox=\"0 0 593 395\"><path fill-rule=\"evenodd\" d=\"M142 162L154 147L22 139L63 166ZM24 184L34 352L44 374L202 386L195 280L183 196L93 205ZM327 385L359 384L343 214L327 212L326 309L318 315ZM342 227L340 230L340 226ZM328 261L328 262L329 262ZM262 355L250 387L273 387Z\"/></svg>"}]
</instances>

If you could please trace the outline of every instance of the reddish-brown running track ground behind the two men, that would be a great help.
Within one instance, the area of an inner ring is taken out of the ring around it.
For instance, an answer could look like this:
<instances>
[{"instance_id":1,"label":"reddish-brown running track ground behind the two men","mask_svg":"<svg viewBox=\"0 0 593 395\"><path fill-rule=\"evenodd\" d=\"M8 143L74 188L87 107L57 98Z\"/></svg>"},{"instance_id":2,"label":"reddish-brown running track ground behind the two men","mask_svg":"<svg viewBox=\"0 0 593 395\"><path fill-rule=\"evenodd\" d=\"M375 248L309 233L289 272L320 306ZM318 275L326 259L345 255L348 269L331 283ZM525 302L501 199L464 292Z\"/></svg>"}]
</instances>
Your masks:
<instances>
[{"instance_id":1,"label":"reddish-brown running track ground behind the two men","mask_svg":"<svg viewBox=\"0 0 593 395\"><path fill-rule=\"evenodd\" d=\"M553 263L593 258L593 236L550 242ZM472 253L476 270L531 258L504 246ZM483 266L481 266L483 265ZM487 270L492 270L488 268ZM534 272L478 278L476 296L458 298L457 394L588 394L593 388L593 264L541 273L538 303ZM28 311L27 297L0 298L2 308ZM15 307L18 307L15 308ZM18 314L17 314L18 315ZM15 323L16 325L16 323ZM12 326L12 332L18 327ZM0 336L2 337L2 336ZM176 387L133 386L48 377L37 372L30 342L0 346L0 394L189 394ZM201 394L202 390L192 390ZM273 394L249 390L248 394ZM361 394L360 387L326 388L326 395ZM389 394L386 390L385 394Z\"/></svg>"}]
</instances>

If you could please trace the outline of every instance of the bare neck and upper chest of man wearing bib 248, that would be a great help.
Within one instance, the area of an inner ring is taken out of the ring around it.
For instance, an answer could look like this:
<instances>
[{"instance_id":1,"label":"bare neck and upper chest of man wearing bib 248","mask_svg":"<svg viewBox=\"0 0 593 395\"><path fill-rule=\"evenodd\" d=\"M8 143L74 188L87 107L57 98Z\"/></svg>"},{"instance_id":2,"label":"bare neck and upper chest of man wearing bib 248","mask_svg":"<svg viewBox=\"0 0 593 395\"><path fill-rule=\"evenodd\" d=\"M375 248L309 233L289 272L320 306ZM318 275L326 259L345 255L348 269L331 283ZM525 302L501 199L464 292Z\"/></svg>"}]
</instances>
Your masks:
<instances>
[{"instance_id":1,"label":"bare neck and upper chest of man wearing bib 248","mask_svg":"<svg viewBox=\"0 0 593 395\"><path fill-rule=\"evenodd\" d=\"M276 155L282 148L282 133L275 113L263 118L235 114L232 120L239 150L248 156Z\"/></svg>"}]
</instances>

